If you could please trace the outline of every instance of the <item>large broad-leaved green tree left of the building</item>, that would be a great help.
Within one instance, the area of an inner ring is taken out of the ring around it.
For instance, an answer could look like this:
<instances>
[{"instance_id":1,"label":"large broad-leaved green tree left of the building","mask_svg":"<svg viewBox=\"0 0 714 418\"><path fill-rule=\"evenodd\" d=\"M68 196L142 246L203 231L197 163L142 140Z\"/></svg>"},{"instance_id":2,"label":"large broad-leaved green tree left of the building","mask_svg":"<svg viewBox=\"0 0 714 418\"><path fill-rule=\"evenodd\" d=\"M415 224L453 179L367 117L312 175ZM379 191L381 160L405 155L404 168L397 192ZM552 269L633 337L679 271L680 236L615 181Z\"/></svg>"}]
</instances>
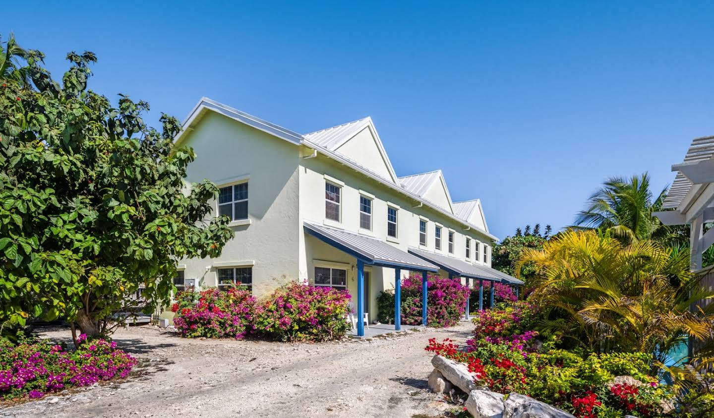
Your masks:
<instances>
[{"instance_id":1,"label":"large broad-leaved green tree left of the building","mask_svg":"<svg viewBox=\"0 0 714 418\"><path fill-rule=\"evenodd\" d=\"M0 322L61 317L96 336L116 312L155 309L176 260L216 257L233 233L210 219L216 186L184 183L195 155L173 148L176 119L157 131L146 102L87 90L91 52L67 55L61 84L43 58L26 53L31 84L0 86Z\"/></svg>"}]
</instances>

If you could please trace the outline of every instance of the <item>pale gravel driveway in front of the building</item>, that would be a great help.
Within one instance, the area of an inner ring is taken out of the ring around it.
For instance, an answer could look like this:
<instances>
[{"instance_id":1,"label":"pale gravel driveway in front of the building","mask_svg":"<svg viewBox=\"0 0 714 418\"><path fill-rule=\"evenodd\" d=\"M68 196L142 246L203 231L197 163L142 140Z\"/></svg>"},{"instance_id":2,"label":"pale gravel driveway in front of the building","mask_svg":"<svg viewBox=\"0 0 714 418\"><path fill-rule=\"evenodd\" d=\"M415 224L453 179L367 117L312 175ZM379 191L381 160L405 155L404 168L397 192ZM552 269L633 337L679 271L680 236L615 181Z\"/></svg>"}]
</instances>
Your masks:
<instances>
[{"instance_id":1,"label":"pale gravel driveway in front of the building","mask_svg":"<svg viewBox=\"0 0 714 418\"><path fill-rule=\"evenodd\" d=\"M155 327L114 341L141 374L0 409L0 417L421 417L448 404L428 391L428 339L463 342L473 326L371 341L281 344L183 339ZM44 337L70 342L69 330Z\"/></svg>"}]
</instances>

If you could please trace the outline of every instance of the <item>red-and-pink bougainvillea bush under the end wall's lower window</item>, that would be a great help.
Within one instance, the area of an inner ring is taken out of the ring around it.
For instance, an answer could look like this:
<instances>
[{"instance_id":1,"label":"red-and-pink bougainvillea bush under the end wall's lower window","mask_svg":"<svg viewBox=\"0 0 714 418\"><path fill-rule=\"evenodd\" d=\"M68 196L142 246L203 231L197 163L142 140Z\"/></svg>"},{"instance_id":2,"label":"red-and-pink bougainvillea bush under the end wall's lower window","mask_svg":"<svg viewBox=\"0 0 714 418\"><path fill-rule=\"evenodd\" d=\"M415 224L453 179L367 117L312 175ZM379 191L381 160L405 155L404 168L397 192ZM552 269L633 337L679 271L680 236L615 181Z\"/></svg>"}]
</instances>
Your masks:
<instances>
[{"instance_id":1,"label":"red-and-pink bougainvillea bush under the end wall's lower window","mask_svg":"<svg viewBox=\"0 0 714 418\"><path fill-rule=\"evenodd\" d=\"M251 292L241 287L178 292L176 300L174 327L183 337L242 339L255 329L260 311Z\"/></svg>"}]
</instances>

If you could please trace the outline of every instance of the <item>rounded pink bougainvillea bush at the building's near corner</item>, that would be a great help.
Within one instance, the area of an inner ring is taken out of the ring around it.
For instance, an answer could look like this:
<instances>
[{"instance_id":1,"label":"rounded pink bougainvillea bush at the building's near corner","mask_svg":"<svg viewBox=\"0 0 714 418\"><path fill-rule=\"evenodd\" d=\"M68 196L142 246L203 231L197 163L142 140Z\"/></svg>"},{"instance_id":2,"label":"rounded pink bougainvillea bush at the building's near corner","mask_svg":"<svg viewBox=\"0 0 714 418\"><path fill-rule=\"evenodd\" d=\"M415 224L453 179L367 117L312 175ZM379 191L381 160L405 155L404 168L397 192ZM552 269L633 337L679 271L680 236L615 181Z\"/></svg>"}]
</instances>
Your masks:
<instances>
[{"instance_id":1,"label":"rounded pink bougainvillea bush at the building's near corner","mask_svg":"<svg viewBox=\"0 0 714 418\"><path fill-rule=\"evenodd\" d=\"M345 336L348 292L291 282L261 304L256 333L281 341L321 342Z\"/></svg>"}]
</instances>

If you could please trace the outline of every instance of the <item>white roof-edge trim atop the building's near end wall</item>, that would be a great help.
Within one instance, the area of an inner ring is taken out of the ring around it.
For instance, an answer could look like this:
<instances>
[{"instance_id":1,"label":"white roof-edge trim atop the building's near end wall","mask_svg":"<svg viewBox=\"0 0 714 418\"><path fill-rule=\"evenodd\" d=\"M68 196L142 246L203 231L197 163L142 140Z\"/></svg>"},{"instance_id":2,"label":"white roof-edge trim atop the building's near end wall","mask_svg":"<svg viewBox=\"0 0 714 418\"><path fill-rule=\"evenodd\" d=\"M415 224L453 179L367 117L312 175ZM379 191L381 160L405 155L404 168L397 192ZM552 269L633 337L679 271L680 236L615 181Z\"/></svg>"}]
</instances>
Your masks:
<instances>
[{"instance_id":1,"label":"white roof-edge trim atop the building's near end wall","mask_svg":"<svg viewBox=\"0 0 714 418\"><path fill-rule=\"evenodd\" d=\"M190 114L188 114L188 117L185 121L183 121L183 124L181 124L183 127L174 137L174 144L181 139L181 136L188 131L188 128L191 126L193 121L204 110L215 111L218 114L222 114L223 116L227 116L233 120L252 126L255 129L266 132L266 134L277 136L278 138L284 139L292 144L299 145L303 141L303 136L301 134L285 129L282 126L272 124L271 122L265 121L251 114L247 114L246 112L239 111L238 109L233 109L232 107L226 106L218 101L213 101L207 97L203 97L200 101L198 101L198 104L193 107L193 110Z\"/></svg>"}]
</instances>

